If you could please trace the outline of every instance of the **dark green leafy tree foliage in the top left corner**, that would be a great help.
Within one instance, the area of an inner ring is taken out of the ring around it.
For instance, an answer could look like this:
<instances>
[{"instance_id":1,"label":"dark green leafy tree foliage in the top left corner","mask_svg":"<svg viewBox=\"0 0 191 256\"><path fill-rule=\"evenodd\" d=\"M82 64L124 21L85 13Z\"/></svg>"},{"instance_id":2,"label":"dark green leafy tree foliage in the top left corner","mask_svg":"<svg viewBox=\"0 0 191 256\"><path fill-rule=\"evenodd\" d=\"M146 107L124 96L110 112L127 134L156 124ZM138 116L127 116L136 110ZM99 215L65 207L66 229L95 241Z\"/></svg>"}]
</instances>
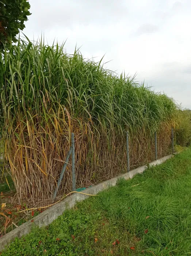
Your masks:
<instances>
[{"instance_id":1,"label":"dark green leafy tree foliage in the top left corner","mask_svg":"<svg viewBox=\"0 0 191 256\"><path fill-rule=\"evenodd\" d=\"M30 4L28 0L0 0L0 49L3 44L16 42L16 35L23 30Z\"/></svg>"}]
</instances>

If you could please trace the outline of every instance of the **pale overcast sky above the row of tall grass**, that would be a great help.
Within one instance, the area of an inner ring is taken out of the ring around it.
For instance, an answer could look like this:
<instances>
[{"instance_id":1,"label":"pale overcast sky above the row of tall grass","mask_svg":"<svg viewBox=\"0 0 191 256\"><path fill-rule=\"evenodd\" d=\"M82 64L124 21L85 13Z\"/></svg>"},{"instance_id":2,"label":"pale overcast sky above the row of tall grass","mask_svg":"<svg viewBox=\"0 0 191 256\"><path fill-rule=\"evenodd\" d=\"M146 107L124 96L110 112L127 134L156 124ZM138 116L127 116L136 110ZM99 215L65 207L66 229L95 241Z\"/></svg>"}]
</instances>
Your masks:
<instances>
[{"instance_id":1,"label":"pale overcast sky above the row of tall grass","mask_svg":"<svg viewBox=\"0 0 191 256\"><path fill-rule=\"evenodd\" d=\"M104 56L105 68L125 71L191 109L191 0L29 0L24 33L66 41L84 57Z\"/></svg>"}]
</instances>

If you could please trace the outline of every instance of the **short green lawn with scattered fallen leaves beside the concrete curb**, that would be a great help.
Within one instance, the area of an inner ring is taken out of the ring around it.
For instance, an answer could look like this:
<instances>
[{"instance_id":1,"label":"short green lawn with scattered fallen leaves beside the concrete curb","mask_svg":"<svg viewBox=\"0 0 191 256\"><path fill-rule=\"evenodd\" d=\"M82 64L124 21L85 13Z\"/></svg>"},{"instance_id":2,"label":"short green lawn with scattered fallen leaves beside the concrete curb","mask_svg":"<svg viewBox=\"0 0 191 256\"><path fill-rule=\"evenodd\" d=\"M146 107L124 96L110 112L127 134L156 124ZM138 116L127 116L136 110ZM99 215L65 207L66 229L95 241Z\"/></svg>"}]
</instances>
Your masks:
<instances>
[{"instance_id":1,"label":"short green lawn with scattered fallen leaves beside the concrete curb","mask_svg":"<svg viewBox=\"0 0 191 256\"><path fill-rule=\"evenodd\" d=\"M191 255L191 149L34 227L1 255Z\"/></svg>"}]
</instances>

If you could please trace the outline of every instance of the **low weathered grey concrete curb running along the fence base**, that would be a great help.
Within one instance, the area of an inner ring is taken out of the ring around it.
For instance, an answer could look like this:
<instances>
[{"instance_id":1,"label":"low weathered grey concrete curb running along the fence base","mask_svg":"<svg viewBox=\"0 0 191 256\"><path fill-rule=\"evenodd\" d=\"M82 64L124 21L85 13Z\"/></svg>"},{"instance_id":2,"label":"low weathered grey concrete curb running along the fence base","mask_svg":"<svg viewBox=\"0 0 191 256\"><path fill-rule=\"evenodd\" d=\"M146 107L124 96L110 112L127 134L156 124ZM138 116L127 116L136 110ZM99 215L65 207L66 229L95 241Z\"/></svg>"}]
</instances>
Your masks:
<instances>
[{"instance_id":1,"label":"low weathered grey concrete curb running along the fence base","mask_svg":"<svg viewBox=\"0 0 191 256\"><path fill-rule=\"evenodd\" d=\"M149 166L155 166L157 164L161 164L165 162L167 159L171 158L173 155L165 156L161 159L158 159L156 161L153 161L149 163ZM97 185L94 185L90 188L87 188L83 190L84 193L87 194L98 194L100 191L109 188L110 186L115 186L118 179L124 178L124 179L131 179L133 176L137 173L142 173L148 168L147 165L138 167L129 173L121 174L117 177L114 177L112 179L109 179L107 181L104 181L102 183L99 183ZM65 209L72 208L77 202L83 201L84 199L88 198L89 196L84 194L78 194L73 193L70 196L68 196L66 199L61 201L58 204L55 204L51 206L46 211L42 212L38 216L34 217L34 224L38 227L47 226L53 220L57 219L58 216L62 215L62 213L65 211ZM28 220L26 223L22 224L21 226L17 227L16 229L10 231L6 235L0 238L0 250L3 250L7 244L9 244L14 238L16 237L22 237L22 235L26 235L31 231L31 227L33 225L31 223L31 220Z\"/></svg>"}]
</instances>

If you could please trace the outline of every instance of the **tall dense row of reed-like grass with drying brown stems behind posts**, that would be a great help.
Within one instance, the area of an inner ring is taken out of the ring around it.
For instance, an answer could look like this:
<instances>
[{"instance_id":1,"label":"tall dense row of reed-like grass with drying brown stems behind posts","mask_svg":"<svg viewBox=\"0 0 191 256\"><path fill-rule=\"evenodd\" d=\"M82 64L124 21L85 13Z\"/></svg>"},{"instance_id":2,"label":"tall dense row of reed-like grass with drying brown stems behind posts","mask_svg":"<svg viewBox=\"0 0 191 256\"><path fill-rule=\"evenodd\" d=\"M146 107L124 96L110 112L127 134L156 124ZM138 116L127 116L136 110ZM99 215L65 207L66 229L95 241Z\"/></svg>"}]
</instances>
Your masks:
<instances>
[{"instance_id":1,"label":"tall dense row of reed-like grass with drying brown stems behind posts","mask_svg":"<svg viewBox=\"0 0 191 256\"><path fill-rule=\"evenodd\" d=\"M1 131L7 170L19 199L50 198L75 133L77 186L126 171L158 157L171 143L177 107L165 94L105 70L63 46L19 40L0 55ZM71 165L60 193L71 190Z\"/></svg>"}]
</instances>

